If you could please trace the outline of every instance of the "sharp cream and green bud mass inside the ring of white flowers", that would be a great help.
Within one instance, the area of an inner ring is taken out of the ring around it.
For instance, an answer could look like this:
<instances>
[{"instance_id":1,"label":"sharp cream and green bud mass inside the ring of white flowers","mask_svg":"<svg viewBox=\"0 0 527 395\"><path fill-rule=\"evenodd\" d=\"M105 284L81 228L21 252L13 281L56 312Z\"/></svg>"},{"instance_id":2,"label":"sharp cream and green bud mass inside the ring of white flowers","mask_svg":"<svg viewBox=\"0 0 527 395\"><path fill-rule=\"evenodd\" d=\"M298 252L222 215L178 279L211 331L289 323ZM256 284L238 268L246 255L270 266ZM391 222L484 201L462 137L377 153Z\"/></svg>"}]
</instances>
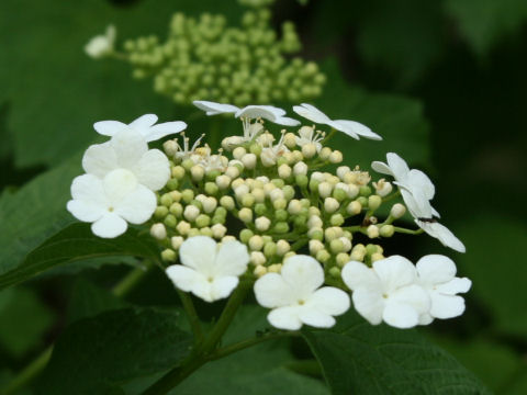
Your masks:
<instances>
[{"instance_id":1,"label":"sharp cream and green bud mass inside the ring of white flowers","mask_svg":"<svg viewBox=\"0 0 527 395\"><path fill-rule=\"evenodd\" d=\"M226 137L217 153L200 140L189 148L184 135L182 145L165 142L171 178L158 192L150 224L165 261L175 262L183 240L198 235L245 244L255 276L280 272L300 249L323 263L326 282L336 284L348 261L384 258L378 241L394 235L392 222L405 213L395 203L388 218L377 218L393 198L390 182L371 182L358 167L322 172L340 165L343 154L324 146L327 137L314 125L282 129L278 138L261 119L244 123L250 129L245 140Z\"/></svg>"}]
</instances>

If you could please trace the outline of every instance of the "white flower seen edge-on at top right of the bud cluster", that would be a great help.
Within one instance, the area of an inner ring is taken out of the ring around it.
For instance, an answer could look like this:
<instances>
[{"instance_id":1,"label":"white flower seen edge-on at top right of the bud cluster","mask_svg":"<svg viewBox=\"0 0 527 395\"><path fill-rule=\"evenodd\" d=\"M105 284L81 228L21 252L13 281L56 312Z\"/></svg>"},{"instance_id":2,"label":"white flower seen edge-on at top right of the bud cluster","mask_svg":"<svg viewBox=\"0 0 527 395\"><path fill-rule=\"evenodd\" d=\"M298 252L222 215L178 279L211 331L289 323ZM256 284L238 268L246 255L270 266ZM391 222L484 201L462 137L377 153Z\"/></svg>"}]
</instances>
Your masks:
<instances>
[{"instance_id":1,"label":"white flower seen edge-on at top right of the bud cluster","mask_svg":"<svg viewBox=\"0 0 527 395\"><path fill-rule=\"evenodd\" d=\"M370 139L382 139L377 133L371 132L368 126L362 125L361 123L347 120L332 120L329 116L324 114L321 110L315 108L312 104L302 103L301 105L293 106L293 111L300 116L310 120L316 124L328 125L339 132L346 133L348 136L359 139L359 136L370 138Z\"/></svg>"}]
</instances>

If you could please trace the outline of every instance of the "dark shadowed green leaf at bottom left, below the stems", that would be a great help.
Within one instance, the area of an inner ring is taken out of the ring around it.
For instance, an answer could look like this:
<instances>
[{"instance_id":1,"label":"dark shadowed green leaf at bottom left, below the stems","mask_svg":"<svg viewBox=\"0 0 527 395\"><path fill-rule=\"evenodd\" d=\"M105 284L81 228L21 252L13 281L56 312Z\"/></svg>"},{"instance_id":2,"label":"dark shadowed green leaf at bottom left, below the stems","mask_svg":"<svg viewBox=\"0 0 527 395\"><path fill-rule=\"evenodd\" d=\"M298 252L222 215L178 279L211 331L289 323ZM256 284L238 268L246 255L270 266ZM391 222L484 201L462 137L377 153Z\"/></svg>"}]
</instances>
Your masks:
<instances>
[{"instance_id":1,"label":"dark shadowed green leaf at bottom left, below the stems","mask_svg":"<svg viewBox=\"0 0 527 395\"><path fill-rule=\"evenodd\" d=\"M37 394L121 393L120 384L162 372L187 357L192 337L176 312L126 308L69 326L58 339Z\"/></svg>"}]
</instances>

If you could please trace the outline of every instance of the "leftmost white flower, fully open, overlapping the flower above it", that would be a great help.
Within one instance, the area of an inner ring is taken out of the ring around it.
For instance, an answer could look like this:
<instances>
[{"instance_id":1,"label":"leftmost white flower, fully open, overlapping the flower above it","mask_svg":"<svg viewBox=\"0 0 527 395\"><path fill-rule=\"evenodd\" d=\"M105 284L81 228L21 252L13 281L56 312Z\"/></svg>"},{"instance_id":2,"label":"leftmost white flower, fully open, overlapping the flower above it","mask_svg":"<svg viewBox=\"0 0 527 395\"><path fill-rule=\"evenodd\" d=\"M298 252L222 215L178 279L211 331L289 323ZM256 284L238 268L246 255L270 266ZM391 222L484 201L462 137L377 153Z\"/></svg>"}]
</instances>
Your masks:
<instances>
[{"instance_id":1,"label":"leftmost white flower, fully open, overlapping the flower above it","mask_svg":"<svg viewBox=\"0 0 527 395\"><path fill-rule=\"evenodd\" d=\"M139 184L125 169L110 171L104 179L93 174L76 177L68 211L82 222L92 223L99 237L113 238L126 232L127 224L143 224L157 206L154 192Z\"/></svg>"}]
</instances>

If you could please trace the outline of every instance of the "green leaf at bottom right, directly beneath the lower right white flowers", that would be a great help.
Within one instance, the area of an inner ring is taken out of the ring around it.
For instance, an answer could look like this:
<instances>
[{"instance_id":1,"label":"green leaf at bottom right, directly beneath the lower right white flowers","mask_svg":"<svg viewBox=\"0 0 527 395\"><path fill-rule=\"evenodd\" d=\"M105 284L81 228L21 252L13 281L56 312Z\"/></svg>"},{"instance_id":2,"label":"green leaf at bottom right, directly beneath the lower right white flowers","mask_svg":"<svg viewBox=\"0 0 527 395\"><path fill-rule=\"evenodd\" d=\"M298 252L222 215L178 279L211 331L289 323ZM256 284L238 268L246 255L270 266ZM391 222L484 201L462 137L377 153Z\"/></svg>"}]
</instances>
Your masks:
<instances>
[{"instance_id":1,"label":"green leaf at bottom right, directly beneath the lower right white flowers","mask_svg":"<svg viewBox=\"0 0 527 395\"><path fill-rule=\"evenodd\" d=\"M456 359L416 330L371 326L355 313L303 330L334 395L490 394Z\"/></svg>"}]
</instances>

